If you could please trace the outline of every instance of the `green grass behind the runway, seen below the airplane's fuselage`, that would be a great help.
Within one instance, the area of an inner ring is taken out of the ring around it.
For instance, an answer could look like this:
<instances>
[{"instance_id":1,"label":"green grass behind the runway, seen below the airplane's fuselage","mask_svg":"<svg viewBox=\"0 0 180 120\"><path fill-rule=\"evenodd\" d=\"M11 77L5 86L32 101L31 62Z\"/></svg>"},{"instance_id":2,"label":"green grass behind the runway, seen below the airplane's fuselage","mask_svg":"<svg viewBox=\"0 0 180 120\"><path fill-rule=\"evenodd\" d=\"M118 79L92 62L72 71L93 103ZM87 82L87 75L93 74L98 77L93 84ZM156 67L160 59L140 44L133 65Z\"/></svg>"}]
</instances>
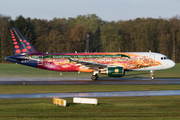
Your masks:
<instances>
[{"instance_id":1,"label":"green grass behind the runway, seen below the airplane's fuselage","mask_svg":"<svg viewBox=\"0 0 180 120\"><path fill-rule=\"evenodd\" d=\"M92 73L77 72L60 72L37 69L19 64L0 64L0 78L90 78ZM180 78L180 63L172 69L155 71L156 78ZM107 75L99 74L100 77L108 77ZM150 77L149 71L145 72L126 72L124 78L135 77Z\"/></svg>"}]
</instances>

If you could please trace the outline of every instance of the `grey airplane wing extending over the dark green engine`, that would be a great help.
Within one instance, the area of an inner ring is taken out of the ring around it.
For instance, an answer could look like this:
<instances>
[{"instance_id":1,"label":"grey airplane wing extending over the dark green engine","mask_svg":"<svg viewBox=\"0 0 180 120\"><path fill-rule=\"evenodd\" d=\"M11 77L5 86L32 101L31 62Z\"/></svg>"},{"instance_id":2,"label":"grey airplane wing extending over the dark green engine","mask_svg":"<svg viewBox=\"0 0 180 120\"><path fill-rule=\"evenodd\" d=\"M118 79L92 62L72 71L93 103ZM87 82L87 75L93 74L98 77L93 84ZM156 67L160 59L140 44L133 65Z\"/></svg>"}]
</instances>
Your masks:
<instances>
[{"instance_id":1,"label":"grey airplane wing extending over the dark green engine","mask_svg":"<svg viewBox=\"0 0 180 120\"><path fill-rule=\"evenodd\" d=\"M69 59L70 62L73 61L73 62L76 62L77 64L81 64L81 65L84 65L86 67L89 67L89 69L99 69L99 68L106 68L107 65L105 64L99 64L99 63L92 63L92 62L86 62L86 61L80 61L80 60L72 60L72 59Z\"/></svg>"}]
</instances>

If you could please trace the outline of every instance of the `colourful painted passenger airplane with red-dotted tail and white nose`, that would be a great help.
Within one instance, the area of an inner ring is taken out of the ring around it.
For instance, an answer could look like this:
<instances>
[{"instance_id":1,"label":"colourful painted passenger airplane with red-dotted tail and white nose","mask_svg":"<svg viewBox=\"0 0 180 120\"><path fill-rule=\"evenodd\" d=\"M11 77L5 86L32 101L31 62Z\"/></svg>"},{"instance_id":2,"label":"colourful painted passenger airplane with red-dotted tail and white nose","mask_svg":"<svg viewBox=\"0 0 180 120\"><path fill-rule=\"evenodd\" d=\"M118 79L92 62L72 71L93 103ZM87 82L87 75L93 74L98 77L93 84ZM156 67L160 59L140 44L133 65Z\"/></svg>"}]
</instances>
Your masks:
<instances>
[{"instance_id":1,"label":"colourful painted passenger airplane with red-dotted tail and white nose","mask_svg":"<svg viewBox=\"0 0 180 120\"><path fill-rule=\"evenodd\" d=\"M5 59L14 63L60 72L90 72L97 80L98 73L123 77L126 71L170 69L175 62L155 52L104 52L104 53L40 53L16 28L9 28L15 55Z\"/></svg>"}]
</instances>

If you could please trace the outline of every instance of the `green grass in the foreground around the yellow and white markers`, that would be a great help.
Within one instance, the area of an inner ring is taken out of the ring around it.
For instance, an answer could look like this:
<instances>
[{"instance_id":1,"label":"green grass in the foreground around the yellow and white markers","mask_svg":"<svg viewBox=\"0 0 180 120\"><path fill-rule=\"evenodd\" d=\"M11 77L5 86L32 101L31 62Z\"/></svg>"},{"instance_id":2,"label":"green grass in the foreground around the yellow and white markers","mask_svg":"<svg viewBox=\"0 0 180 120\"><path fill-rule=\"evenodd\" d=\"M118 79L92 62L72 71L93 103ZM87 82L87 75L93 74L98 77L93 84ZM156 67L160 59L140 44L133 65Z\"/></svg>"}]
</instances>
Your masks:
<instances>
[{"instance_id":1,"label":"green grass in the foreground around the yellow and white markers","mask_svg":"<svg viewBox=\"0 0 180 120\"><path fill-rule=\"evenodd\" d=\"M0 100L0 119L51 120L176 120L180 119L180 96L105 97L98 105L52 104L50 98Z\"/></svg>"}]
</instances>

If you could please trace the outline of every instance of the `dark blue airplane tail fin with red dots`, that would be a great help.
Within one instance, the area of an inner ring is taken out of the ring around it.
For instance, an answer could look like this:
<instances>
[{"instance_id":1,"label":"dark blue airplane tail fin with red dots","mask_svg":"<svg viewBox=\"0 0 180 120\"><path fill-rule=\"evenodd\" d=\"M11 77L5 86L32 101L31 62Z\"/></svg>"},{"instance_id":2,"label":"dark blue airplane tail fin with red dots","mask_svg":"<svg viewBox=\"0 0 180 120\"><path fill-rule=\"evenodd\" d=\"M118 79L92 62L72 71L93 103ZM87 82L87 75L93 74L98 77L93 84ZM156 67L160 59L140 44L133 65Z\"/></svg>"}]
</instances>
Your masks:
<instances>
[{"instance_id":1,"label":"dark blue airplane tail fin with red dots","mask_svg":"<svg viewBox=\"0 0 180 120\"><path fill-rule=\"evenodd\" d=\"M15 55L40 54L16 27L10 27L9 31Z\"/></svg>"}]
</instances>

